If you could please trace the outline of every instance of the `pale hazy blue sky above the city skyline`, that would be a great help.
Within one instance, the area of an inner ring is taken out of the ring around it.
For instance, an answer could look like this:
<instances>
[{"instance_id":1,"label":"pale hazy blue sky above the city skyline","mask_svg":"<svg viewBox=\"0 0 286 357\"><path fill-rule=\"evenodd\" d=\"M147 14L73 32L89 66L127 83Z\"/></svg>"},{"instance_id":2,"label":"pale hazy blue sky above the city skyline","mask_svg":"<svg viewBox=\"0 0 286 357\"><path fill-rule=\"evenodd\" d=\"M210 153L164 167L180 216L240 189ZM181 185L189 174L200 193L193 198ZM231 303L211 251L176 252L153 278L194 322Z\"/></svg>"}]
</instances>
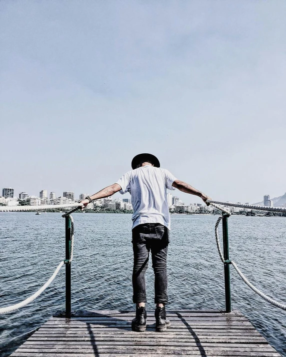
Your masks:
<instances>
[{"instance_id":1,"label":"pale hazy blue sky above the city skyline","mask_svg":"<svg viewBox=\"0 0 286 357\"><path fill-rule=\"evenodd\" d=\"M1 188L93 194L149 152L215 200L284 194L285 17L281 0L0 1Z\"/></svg>"}]
</instances>

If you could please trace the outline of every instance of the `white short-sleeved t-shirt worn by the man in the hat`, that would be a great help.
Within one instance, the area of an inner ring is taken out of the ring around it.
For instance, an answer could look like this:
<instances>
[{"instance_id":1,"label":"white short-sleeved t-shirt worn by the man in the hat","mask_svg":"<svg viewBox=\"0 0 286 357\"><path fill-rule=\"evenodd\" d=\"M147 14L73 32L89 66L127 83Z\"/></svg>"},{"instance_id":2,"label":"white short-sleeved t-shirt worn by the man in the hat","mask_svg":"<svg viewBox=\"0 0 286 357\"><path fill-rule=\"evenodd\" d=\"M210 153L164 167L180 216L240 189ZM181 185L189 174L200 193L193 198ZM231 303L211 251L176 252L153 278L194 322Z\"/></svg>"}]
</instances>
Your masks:
<instances>
[{"instance_id":1,"label":"white short-sleeved t-shirt worn by the man in the hat","mask_svg":"<svg viewBox=\"0 0 286 357\"><path fill-rule=\"evenodd\" d=\"M143 223L160 223L170 229L166 189L174 190L175 180L168 170L145 165L126 172L116 182L122 195L126 192L131 195L132 229Z\"/></svg>"}]
</instances>

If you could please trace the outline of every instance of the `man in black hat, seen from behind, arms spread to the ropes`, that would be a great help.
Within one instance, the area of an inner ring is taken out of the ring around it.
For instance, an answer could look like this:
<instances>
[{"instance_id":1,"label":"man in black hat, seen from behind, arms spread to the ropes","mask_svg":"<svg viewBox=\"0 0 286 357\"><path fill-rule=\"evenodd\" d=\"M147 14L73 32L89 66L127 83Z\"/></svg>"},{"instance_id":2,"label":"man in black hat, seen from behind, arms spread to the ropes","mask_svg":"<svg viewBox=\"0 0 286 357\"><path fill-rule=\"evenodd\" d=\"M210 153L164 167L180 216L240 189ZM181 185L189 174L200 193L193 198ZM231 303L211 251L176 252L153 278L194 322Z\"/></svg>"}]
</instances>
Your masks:
<instances>
[{"instance_id":1,"label":"man in black hat, seen from behind, arms spread to the ropes","mask_svg":"<svg viewBox=\"0 0 286 357\"><path fill-rule=\"evenodd\" d=\"M170 215L166 189L177 188L182 192L200 197L204 202L210 197L177 180L169 171L160 168L159 160L151 154L136 155L131 162L132 170L126 172L116 183L103 188L91 197L81 201L84 206L93 200L113 195L115 192L131 194L132 245L133 245L133 303L136 317L132 320L133 331L146 330L145 272L149 252L155 275L155 319L156 331L165 331L170 326L166 319L167 297L167 250L169 243Z\"/></svg>"}]
</instances>

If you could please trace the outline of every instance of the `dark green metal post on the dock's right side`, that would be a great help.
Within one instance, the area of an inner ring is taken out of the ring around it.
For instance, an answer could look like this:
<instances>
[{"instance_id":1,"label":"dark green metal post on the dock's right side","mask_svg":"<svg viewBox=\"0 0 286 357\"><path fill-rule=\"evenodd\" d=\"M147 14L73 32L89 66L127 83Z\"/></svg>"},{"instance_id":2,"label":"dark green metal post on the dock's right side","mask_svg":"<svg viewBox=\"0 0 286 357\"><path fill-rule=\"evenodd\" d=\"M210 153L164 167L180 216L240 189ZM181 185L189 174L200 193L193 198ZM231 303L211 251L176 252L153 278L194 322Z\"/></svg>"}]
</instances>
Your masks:
<instances>
[{"instance_id":1,"label":"dark green metal post on the dock's right side","mask_svg":"<svg viewBox=\"0 0 286 357\"><path fill-rule=\"evenodd\" d=\"M228 250L228 214L222 214L222 237L223 237L223 257L224 260L229 261ZM231 312L231 295L230 295L230 269L229 263L224 263L224 290L225 290L225 312Z\"/></svg>"}]
</instances>

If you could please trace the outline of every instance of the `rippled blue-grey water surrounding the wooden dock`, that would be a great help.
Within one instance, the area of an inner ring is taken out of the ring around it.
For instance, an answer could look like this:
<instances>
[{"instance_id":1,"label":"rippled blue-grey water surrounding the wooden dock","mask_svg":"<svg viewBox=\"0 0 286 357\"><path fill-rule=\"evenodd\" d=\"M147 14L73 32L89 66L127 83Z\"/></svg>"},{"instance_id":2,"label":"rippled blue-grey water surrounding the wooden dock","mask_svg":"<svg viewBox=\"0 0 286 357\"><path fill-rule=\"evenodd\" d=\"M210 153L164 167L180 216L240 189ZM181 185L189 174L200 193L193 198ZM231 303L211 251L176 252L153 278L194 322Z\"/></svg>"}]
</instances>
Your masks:
<instances>
[{"instance_id":1,"label":"rippled blue-grey water surrounding the wooden dock","mask_svg":"<svg viewBox=\"0 0 286 357\"><path fill-rule=\"evenodd\" d=\"M172 215L168 309L223 309L223 266L214 223L218 216ZM73 214L72 310L134 309L131 215ZM286 219L232 216L230 258L264 293L286 302ZM59 213L0 213L0 307L32 295L64 258ZM147 271L147 311L153 314L153 276ZM255 295L231 268L232 308L286 356L286 313ZM55 311L64 309L64 269L35 301L0 316L1 353L14 351Z\"/></svg>"}]
</instances>

